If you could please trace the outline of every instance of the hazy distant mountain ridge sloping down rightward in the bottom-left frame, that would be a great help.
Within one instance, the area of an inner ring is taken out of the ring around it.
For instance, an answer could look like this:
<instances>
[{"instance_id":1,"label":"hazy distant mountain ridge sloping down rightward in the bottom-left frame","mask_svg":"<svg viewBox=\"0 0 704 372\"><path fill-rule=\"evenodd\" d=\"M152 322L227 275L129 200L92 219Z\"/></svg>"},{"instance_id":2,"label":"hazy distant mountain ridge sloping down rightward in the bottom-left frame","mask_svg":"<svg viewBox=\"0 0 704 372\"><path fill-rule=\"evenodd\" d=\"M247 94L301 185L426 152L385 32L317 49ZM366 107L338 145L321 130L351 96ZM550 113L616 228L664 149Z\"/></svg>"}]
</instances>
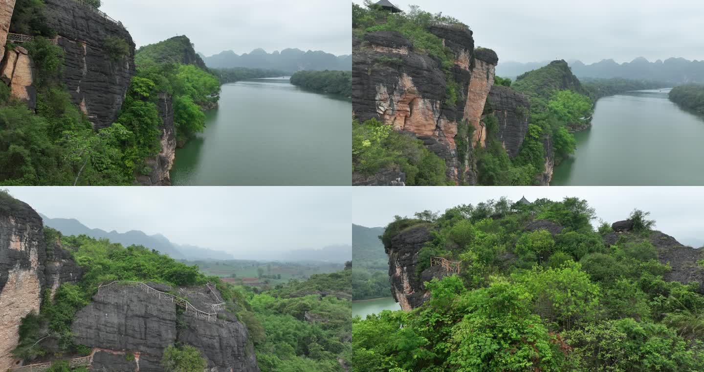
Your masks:
<instances>
[{"instance_id":1,"label":"hazy distant mountain ridge sloping down rightward in the bottom-left frame","mask_svg":"<svg viewBox=\"0 0 704 372\"><path fill-rule=\"evenodd\" d=\"M63 235L88 235L96 239L108 239L125 247L132 244L143 245L149 249L156 249L162 254L168 254L172 259L234 259L234 256L227 252L172 243L161 234L146 235L139 230L130 230L126 233L113 230L108 233L105 230L88 228L74 218L49 218L42 213L39 213L39 216L42 216L44 225L55 228Z\"/></svg>"}]
</instances>

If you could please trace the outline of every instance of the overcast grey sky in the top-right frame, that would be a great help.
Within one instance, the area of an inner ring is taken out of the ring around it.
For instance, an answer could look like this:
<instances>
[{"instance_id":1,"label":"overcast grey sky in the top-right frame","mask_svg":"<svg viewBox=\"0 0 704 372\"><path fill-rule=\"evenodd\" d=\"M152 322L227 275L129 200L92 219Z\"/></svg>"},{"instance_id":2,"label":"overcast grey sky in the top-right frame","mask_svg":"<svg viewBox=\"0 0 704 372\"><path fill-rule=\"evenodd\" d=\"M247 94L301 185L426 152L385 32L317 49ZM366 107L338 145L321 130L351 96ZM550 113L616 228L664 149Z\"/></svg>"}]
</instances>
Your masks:
<instances>
[{"instance_id":1,"label":"overcast grey sky in the top-right frame","mask_svg":"<svg viewBox=\"0 0 704 372\"><path fill-rule=\"evenodd\" d=\"M363 4L361 0L355 0ZM670 57L704 59L704 2L699 0L391 0L458 18L474 43L494 49L498 61L605 58L630 62Z\"/></svg>"}]
</instances>

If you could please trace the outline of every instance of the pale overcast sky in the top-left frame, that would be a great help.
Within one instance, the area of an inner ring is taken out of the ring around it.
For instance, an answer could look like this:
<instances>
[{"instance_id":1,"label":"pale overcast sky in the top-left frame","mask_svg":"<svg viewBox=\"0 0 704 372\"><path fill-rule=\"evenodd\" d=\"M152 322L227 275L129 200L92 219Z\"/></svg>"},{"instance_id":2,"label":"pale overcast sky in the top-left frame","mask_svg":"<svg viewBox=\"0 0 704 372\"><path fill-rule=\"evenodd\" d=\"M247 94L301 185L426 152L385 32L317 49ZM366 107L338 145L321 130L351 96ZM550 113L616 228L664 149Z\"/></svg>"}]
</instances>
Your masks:
<instances>
[{"instance_id":1,"label":"pale overcast sky in the top-left frame","mask_svg":"<svg viewBox=\"0 0 704 372\"><path fill-rule=\"evenodd\" d=\"M351 54L350 4L340 0L102 0L137 47L186 35L206 56L298 48Z\"/></svg>"}]
</instances>

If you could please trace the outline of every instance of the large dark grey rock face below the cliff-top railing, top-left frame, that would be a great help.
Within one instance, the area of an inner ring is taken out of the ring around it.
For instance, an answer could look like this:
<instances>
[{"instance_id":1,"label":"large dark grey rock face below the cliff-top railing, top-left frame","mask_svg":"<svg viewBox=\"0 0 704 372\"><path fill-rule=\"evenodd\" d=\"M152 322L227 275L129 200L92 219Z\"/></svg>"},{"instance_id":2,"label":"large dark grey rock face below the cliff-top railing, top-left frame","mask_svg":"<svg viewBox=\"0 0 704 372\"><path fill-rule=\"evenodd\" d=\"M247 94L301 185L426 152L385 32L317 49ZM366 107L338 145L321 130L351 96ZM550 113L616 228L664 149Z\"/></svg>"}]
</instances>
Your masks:
<instances>
[{"instance_id":1,"label":"large dark grey rock face below the cliff-top railing, top-left frame","mask_svg":"<svg viewBox=\"0 0 704 372\"><path fill-rule=\"evenodd\" d=\"M1 0L0 0L1 1ZM121 23L109 20L92 6L77 1L44 0L46 23L58 32L64 51L63 83L94 128L117 118L134 75L134 42ZM127 56L111 56L107 40L121 39Z\"/></svg>"}]
</instances>

